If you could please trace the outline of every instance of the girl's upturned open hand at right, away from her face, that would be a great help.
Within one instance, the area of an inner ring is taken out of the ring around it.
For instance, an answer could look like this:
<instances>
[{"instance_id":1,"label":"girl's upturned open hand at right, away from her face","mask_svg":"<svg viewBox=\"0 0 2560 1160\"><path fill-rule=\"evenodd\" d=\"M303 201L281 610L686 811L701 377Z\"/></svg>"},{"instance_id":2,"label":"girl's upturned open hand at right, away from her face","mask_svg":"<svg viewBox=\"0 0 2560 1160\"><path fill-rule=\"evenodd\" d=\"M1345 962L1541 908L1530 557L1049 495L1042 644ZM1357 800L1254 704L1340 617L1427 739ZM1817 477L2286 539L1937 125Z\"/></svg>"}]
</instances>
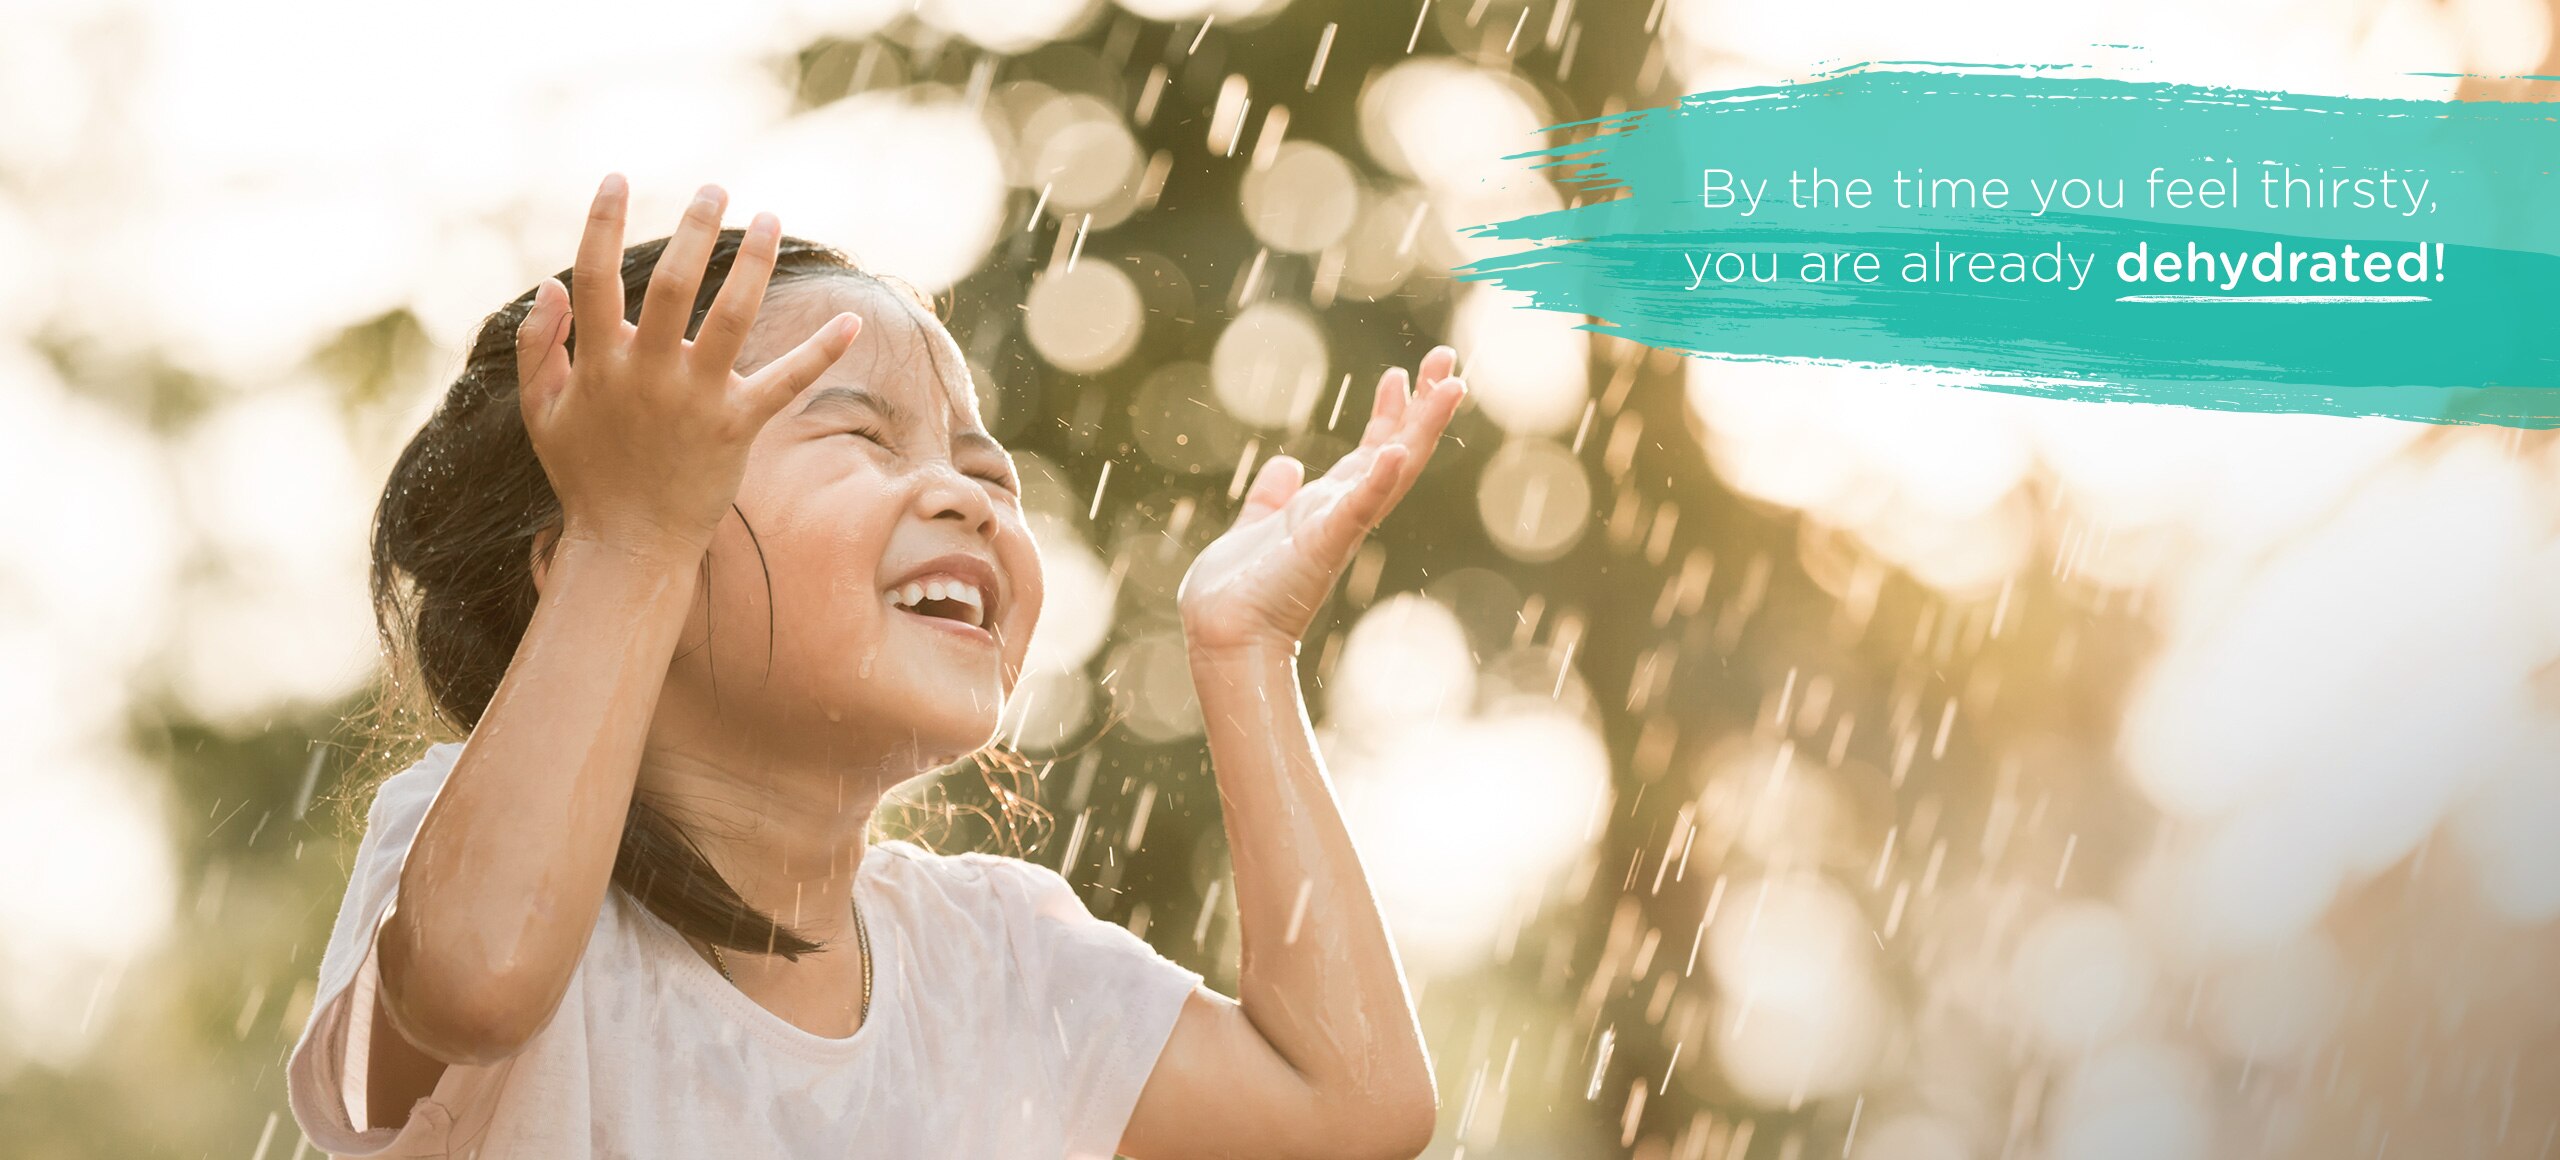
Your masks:
<instances>
[{"instance_id":1,"label":"girl's upturned open hand at right, away from her face","mask_svg":"<svg viewBox=\"0 0 2560 1160\"><path fill-rule=\"evenodd\" d=\"M1370 530L1421 476L1467 384L1449 371L1457 351L1431 348L1421 392L1405 397L1405 371L1377 382L1359 446L1316 481L1293 456L1272 456L1244 492L1244 512L1201 548L1175 604L1193 650L1283 643L1295 648Z\"/></svg>"}]
</instances>

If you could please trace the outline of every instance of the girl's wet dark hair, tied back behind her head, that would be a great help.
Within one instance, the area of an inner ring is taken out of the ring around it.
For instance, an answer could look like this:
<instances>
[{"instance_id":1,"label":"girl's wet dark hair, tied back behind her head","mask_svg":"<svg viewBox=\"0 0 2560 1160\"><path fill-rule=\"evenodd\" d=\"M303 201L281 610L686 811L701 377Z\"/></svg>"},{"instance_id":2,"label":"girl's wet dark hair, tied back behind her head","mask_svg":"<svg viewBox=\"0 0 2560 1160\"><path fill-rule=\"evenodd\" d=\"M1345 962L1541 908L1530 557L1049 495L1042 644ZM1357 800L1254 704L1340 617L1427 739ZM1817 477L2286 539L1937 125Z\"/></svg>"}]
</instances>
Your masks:
<instances>
[{"instance_id":1,"label":"girl's wet dark hair, tied back behind her head","mask_svg":"<svg viewBox=\"0 0 2560 1160\"><path fill-rule=\"evenodd\" d=\"M694 318L686 323L689 338L699 333L727 282L742 238L745 230L719 230L701 274L701 292L694 297ZM640 318L663 248L666 238L655 238L622 251L622 312L632 323ZM561 284L573 287L571 274L563 269ZM768 287L814 277L868 282L934 315L932 302L906 282L870 274L837 248L781 238ZM497 697L499 679L532 622L538 599L532 548L535 543L543 543L545 553L553 548L556 540L545 540L543 533L556 530L561 499L535 458L517 402L515 333L527 310L532 310L530 289L481 320L461 376L402 448L381 489L374 512L371 589L374 625L392 673L379 720L402 717L397 702L404 699L402 689L415 671L428 702L425 714L468 735ZM745 512L737 517L745 520ZM755 530L748 528L748 535L753 540ZM709 571L704 571L707 584ZM1037 812L1021 791L1027 773L1021 755L986 748L975 758L1009 822L1016 809ZM1011 786L993 778L996 768L1011 773ZM622 848L614 853L612 881L671 927L704 942L786 958L819 950L819 942L740 899L686 827L637 791L622 827Z\"/></svg>"}]
</instances>

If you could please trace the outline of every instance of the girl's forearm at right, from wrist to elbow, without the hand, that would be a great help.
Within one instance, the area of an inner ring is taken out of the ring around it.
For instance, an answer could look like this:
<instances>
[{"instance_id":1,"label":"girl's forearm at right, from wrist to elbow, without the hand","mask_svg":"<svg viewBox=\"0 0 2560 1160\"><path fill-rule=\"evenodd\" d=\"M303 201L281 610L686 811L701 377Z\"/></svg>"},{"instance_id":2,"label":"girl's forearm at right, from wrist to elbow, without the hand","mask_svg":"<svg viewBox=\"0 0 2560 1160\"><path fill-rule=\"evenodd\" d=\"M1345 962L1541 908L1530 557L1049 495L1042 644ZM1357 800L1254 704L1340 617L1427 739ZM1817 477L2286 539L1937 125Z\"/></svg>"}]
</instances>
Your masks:
<instances>
[{"instance_id":1,"label":"girl's forearm at right, from wrist to elbow, without the hand","mask_svg":"<svg viewBox=\"0 0 2560 1160\"><path fill-rule=\"evenodd\" d=\"M1190 673L1236 871L1236 1001L1331 1111L1428 1122L1431 1060L1316 753L1295 648L1193 648Z\"/></svg>"}]
</instances>

